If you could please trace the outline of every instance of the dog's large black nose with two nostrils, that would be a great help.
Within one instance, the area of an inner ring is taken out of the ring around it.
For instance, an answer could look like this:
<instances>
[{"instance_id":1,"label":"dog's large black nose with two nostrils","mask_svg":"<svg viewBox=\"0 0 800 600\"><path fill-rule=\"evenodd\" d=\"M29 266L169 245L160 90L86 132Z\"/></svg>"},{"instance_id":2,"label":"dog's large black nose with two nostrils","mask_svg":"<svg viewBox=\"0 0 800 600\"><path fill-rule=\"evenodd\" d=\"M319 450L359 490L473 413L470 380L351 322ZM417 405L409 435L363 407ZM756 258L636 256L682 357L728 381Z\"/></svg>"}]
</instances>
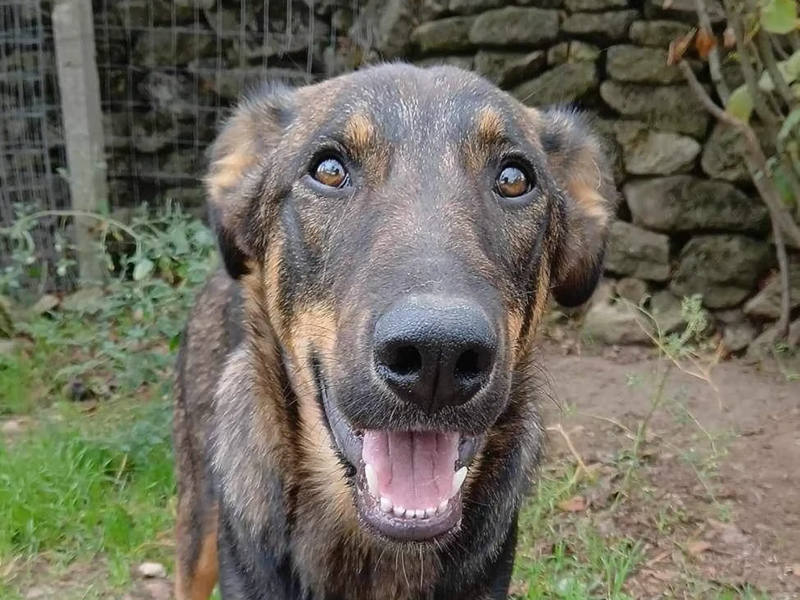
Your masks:
<instances>
[{"instance_id":1,"label":"dog's large black nose with two nostrils","mask_svg":"<svg viewBox=\"0 0 800 600\"><path fill-rule=\"evenodd\" d=\"M467 402L489 382L497 338L481 310L435 299L395 306L375 324L375 370L428 412Z\"/></svg>"}]
</instances>

